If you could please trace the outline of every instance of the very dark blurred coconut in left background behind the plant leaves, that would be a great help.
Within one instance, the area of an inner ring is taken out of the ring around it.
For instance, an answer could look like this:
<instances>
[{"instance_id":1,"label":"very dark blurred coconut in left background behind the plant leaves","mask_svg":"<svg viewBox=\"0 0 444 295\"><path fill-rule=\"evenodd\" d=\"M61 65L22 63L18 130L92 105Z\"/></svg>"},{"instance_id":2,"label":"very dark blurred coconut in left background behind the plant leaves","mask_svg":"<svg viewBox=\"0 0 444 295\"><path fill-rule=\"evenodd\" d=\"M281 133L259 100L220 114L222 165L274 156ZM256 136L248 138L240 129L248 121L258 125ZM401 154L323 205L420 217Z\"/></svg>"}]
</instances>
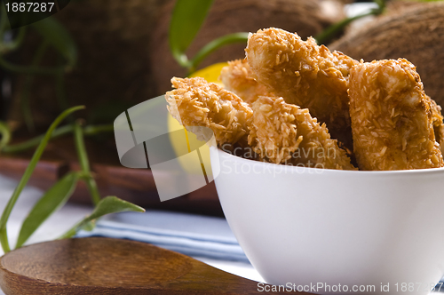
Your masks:
<instances>
[{"instance_id":1,"label":"very dark blurred coconut in left background behind the plant leaves","mask_svg":"<svg viewBox=\"0 0 444 295\"><path fill-rule=\"evenodd\" d=\"M118 114L126 106L155 97L148 50L155 20L164 3L164 0L71 1L54 15L78 48L78 63L66 74L69 105L87 107L77 114L88 116L98 110L108 112L109 108L116 108L111 113ZM30 64L40 42L41 37L29 29L17 63ZM42 64L54 66L56 56L50 50ZM23 76L15 76L9 116L13 121L22 121L19 100L22 80ZM51 123L60 113L55 88L52 76L36 76L30 100L37 125ZM107 122L113 120L109 116Z\"/></svg>"}]
</instances>

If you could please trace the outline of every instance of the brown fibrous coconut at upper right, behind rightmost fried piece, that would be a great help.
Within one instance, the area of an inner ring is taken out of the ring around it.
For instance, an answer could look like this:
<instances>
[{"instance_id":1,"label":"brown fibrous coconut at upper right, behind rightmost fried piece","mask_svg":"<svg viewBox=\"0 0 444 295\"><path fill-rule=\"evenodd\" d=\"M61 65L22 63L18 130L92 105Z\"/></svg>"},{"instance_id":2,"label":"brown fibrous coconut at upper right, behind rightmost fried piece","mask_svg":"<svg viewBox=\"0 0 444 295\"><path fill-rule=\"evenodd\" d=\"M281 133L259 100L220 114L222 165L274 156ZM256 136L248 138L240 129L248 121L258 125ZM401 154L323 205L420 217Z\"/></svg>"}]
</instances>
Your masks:
<instances>
[{"instance_id":1,"label":"brown fibrous coconut at upper right, behind rightmost fried piece","mask_svg":"<svg viewBox=\"0 0 444 295\"><path fill-rule=\"evenodd\" d=\"M444 106L444 3L397 5L329 45L356 60L405 58L416 65L425 92Z\"/></svg>"}]
</instances>

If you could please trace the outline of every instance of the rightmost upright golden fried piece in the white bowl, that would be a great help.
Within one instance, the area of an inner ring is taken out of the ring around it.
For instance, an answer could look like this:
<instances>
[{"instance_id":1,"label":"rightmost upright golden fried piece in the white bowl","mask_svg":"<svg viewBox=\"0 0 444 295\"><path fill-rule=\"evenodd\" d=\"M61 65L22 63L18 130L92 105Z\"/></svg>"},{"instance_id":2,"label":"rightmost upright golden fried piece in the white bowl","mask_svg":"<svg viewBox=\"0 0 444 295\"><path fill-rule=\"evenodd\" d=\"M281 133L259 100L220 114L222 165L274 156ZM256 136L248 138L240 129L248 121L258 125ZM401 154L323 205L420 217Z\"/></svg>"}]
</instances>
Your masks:
<instances>
[{"instance_id":1,"label":"rightmost upright golden fried piece in the white bowl","mask_svg":"<svg viewBox=\"0 0 444 295\"><path fill-rule=\"evenodd\" d=\"M408 60L361 62L351 70L349 95L354 153L361 170L444 166L433 132L431 100Z\"/></svg>"}]
</instances>

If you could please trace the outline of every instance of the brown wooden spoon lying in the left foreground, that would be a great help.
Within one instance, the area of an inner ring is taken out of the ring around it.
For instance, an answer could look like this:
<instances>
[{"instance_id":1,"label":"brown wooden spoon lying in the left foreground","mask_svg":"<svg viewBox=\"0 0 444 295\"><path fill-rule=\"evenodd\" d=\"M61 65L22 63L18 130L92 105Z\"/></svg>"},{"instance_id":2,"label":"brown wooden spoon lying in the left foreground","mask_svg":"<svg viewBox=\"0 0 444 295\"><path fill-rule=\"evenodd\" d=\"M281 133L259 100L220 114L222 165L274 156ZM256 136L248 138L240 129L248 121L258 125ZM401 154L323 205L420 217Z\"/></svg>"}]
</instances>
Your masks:
<instances>
[{"instance_id":1,"label":"brown wooden spoon lying in the left foreground","mask_svg":"<svg viewBox=\"0 0 444 295\"><path fill-rule=\"evenodd\" d=\"M186 255L101 237L37 243L11 251L0 260L0 287L6 295L264 293L258 291L257 282Z\"/></svg>"}]
</instances>

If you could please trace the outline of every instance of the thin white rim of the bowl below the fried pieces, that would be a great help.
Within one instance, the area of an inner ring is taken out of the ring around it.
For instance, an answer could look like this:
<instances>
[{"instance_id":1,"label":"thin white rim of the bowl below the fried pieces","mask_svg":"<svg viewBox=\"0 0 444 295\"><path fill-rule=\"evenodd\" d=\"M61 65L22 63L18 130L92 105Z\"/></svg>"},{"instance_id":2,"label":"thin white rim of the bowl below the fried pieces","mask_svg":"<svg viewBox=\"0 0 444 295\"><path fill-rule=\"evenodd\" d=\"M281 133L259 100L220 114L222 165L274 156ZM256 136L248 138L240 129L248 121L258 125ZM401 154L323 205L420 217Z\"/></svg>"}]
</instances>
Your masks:
<instances>
[{"instance_id":1,"label":"thin white rim of the bowl below the fried pieces","mask_svg":"<svg viewBox=\"0 0 444 295\"><path fill-rule=\"evenodd\" d=\"M247 164L258 164L258 165L268 165L269 167L275 168L279 166L284 166L285 169L289 169L290 171L295 171L298 174L301 174L300 171L297 172L297 170L306 170L307 173L311 174L318 174L321 175L325 172L327 173L344 173L344 174L353 174L353 175L402 175L402 174L420 174L420 175L430 175L430 174L440 174L444 173L444 167L440 168L424 168L424 169L409 169L409 170L389 170L389 171L361 171L361 170L338 170L338 169L321 169L321 168L311 168L311 167L298 167L298 166L291 166L291 165L281 165L277 163L267 163L267 162L259 162L255 160L245 159L241 156L233 155L230 153L227 153L225 150L222 150L221 148L217 148L218 153L222 153L223 155L227 155L228 157L234 159L235 161L240 161ZM211 148L210 148L211 150ZM320 170L322 172L320 172Z\"/></svg>"}]
</instances>

